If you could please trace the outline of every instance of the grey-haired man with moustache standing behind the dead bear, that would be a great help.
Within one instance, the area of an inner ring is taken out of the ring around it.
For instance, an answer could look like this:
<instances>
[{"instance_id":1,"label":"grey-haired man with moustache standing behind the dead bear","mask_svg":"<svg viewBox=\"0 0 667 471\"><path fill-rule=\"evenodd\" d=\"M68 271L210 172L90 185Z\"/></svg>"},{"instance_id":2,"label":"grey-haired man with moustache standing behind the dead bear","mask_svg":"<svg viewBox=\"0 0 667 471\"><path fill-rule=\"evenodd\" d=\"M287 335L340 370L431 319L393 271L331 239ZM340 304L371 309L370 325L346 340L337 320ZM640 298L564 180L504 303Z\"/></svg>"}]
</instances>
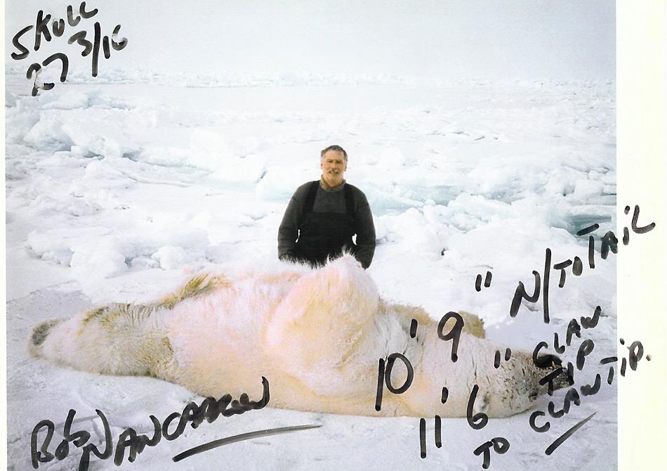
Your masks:
<instances>
[{"instance_id":1,"label":"grey-haired man with moustache standing behind the dead bear","mask_svg":"<svg viewBox=\"0 0 667 471\"><path fill-rule=\"evenodd\" d=\"M348 153L329 146L320 153L319 167L319 181L304 183L289 200L278 229L278 258L318 266L347 250L367 269L375 252L375 226L366 195L343 179Z\"/></svg>"}]
</instances>

